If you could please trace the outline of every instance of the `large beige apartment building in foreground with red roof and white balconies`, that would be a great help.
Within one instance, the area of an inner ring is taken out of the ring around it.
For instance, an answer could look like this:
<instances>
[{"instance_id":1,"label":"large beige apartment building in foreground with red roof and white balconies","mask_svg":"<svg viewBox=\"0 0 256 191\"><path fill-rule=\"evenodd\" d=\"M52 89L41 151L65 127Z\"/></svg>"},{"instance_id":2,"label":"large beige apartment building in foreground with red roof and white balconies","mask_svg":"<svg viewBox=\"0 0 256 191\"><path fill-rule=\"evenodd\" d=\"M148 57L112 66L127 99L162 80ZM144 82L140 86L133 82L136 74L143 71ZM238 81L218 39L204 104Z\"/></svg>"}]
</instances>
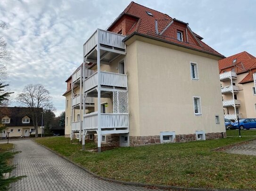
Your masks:
<instances>
[{"instance_id":1,"label":"large beige apartment building in foreground with red roof and white balconies","mask_svg":"<svg viewBox=\"0 0 256 191\"><path fill-rule=\"evenodd\" d=\"M188 23L134 2L106 31L97 29L83 46L83 74L94 73L83 78L80 95L95 103L88 114L83 104L83 145L85 135L96 134L99 151L109 142L225 137L218 70L224 56L202 39Z\"/></svg>"}]
</instances>

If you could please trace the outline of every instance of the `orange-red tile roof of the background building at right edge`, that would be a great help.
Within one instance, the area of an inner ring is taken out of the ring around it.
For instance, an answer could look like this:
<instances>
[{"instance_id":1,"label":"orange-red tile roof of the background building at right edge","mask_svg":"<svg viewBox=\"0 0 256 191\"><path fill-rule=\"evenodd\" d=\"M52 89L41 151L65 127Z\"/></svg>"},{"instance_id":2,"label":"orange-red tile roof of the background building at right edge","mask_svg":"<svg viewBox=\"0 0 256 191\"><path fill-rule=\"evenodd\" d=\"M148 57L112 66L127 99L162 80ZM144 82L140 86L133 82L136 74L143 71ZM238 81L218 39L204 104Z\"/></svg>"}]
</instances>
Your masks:
<instances>
[{"instance_id":1,"label":"orange-red tile roof of the background building at right edge","mask_svg":"<svg viewBox=\"0 0 256 191\"><path fill-rule=\"evenodd\" d=\"M234 60L236 61L233 63ZM231 71L232 68L235 69L237 74L248 72L248 75L239 84L253 82L253 71L256 71L256 57L244 51L219 60L220 73Z\"/></svg>"}]
</instances>

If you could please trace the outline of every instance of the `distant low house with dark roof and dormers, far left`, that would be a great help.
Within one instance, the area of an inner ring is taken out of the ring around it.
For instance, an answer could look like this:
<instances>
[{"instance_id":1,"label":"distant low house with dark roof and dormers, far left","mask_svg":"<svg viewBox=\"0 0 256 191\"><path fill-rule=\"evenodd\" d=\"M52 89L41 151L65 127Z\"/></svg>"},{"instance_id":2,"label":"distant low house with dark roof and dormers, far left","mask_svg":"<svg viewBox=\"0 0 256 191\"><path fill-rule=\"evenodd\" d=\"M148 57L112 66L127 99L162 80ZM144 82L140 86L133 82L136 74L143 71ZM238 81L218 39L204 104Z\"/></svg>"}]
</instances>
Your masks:
<instances>
[{"instance_id":1,"label":"distant low house with dark roof and dormers, far left","mask_svg":"<svg viewBox=\"0 0 256 191\"><path fill-rule=\"evenodd\" d=\"M0 107L0 118L2 124L7 126L0 134L1 138L6 138L8 132L11 138L29 137L30 133L35 133L33 120L27 107ZM40 134L41 116L38 124Z\"/></svg>"}]
</instances>

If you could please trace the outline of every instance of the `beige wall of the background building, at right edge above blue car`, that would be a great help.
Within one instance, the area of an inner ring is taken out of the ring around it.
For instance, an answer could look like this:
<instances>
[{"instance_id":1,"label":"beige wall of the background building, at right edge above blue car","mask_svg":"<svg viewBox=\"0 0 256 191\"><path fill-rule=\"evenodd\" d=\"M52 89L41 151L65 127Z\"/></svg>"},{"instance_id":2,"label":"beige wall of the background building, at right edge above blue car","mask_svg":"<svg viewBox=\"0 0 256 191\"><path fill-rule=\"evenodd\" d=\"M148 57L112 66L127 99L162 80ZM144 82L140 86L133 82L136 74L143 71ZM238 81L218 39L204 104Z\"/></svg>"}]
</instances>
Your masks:
<instances>
[{"instance_id":1,"label":"beige wall of the background building, at right edge above blue car","mask_svg":"<svg viewBox=\"0 0 256 191\"><path fill-rule=\"evenodd\" d=\"M256 95L253 95L252 87L254 87L254 83L250 82L247 84L242 84L243 86L243 96L244 96L244 110L247 115L243 115L243 118L256 118Z\"/></svg>"}]
</instances>

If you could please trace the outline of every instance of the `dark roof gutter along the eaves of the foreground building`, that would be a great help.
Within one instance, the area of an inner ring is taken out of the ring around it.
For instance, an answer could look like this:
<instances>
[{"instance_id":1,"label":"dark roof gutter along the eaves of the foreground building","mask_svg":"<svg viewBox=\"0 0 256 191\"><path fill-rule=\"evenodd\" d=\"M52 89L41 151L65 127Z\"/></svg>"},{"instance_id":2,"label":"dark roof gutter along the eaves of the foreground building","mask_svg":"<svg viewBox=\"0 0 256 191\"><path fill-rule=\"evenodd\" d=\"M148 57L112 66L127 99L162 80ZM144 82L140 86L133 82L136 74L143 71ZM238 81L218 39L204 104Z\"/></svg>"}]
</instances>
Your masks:
<instances>
[{"instance_id":1,"label":"dark roof gutter along the eaves of the foreground building","mask_svg":"<svg viewBox=\"0 0 256 191\"><path fill-rule=\"evenodd\" d=\"M210 53L210 52L207 52L207 51L202 51L202 50L198 50L196 48L193 48L193 47L190 47L190 46L185 46L185 45L181 45L181 44L178 44L178 43L175 43L175 42L171 42L171 41L168 41L168 40L165 40L165 39L161 39L161 38L157 38L157 37L152 37L152 36L149 36L149 35L145 35L145 34L141 34L139 32L132 32L130 35L126 36L122 42L125 42L126 40L128 40L129 38L132 38L134 35L138 35L138 36L142 36L142 37L146 37L146 38L151 38L151 39L154 39L154 40L159 40L159 41L162 41L162 42L165 42L165 43L168 43L168 44L172 44L172 45L176 45L176 46L182 46L184 48L188 48L188 49L191 49L191 50L195 50L195 51L198 51L198 52L201 52L201 53L208 53L208 54L211 54L211 55L214 55L214 56L217 56L217 57L220 57L220 58L226 58L225 56L223 56L222 54L215 54L215 53Z\"/></svg>"}]
</instances>

